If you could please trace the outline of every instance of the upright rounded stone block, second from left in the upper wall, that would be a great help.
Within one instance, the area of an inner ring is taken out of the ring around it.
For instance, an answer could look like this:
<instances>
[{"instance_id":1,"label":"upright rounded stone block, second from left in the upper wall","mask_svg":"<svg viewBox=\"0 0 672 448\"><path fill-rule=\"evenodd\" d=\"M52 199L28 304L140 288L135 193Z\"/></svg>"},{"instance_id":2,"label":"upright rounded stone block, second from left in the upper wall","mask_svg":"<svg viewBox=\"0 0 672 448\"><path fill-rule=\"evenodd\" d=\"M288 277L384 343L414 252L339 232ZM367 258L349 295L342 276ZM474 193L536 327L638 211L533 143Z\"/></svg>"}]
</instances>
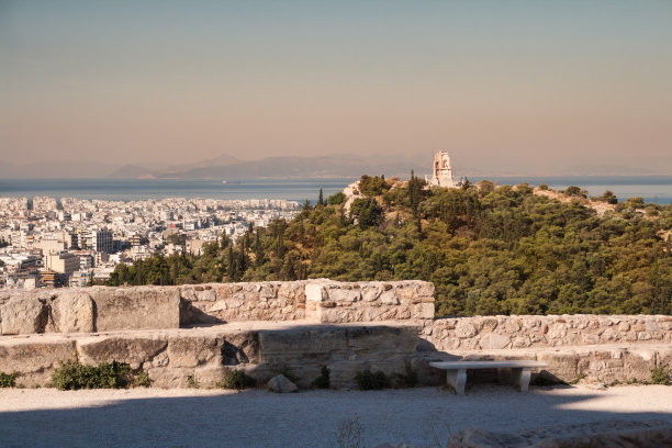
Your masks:
<instances>
[{"instance_id":1,"label":"upright rounded stone block, second from left in the upper wall","mask_svg":"<svg viewBox=\"0 0 672 448\"><path fill-rule=\"evenodd\" d=\"M96 331L93 301L82 291L66 292L52 303L54 323L60 333Z\"/></svg>"}]
</instances>

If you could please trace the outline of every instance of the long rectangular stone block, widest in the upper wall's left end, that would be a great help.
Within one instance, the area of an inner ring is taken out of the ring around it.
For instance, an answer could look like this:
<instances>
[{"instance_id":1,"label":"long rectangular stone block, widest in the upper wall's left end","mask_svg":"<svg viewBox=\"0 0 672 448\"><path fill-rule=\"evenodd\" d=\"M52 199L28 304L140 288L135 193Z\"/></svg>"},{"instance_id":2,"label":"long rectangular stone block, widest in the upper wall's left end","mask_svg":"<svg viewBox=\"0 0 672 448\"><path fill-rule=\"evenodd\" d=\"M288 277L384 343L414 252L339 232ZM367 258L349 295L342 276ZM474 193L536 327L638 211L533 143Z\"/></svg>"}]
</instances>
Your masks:
<instances>
[{"instance_id":1,"label":"long rectangular stone block, widest in the upper wall's left end","mask_svg":"<svg viewBox=\"0 0 672 448\"><path fill-rule=\"evenodd\" d=\"M96 329L179 328L180 293L176 288L100 288L96 302Z\"/></svg>"}]
</instances>

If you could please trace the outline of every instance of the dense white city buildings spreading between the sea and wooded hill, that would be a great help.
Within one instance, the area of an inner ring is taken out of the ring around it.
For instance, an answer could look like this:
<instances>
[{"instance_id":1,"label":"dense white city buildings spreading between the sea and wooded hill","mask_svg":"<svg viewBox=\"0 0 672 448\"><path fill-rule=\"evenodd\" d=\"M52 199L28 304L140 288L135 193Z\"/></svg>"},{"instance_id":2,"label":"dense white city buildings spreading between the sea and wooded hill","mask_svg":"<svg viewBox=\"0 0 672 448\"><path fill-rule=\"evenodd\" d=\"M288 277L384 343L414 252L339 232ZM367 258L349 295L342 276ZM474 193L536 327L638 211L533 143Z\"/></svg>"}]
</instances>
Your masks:
<instances>
[{"instance_id":1,"label":"dense white city buildings spreading between the sea and wooded hill","mask_svg":"<svg viewBox=\"0 0 672 448\"><path fill-rule=\"evenodd\" d=\"M120 262L187 250L223 233L291 219L287 200L169 198L101 201L0 197L0 288L83 287L107 281Z\"/></svg>"}]
</instances>

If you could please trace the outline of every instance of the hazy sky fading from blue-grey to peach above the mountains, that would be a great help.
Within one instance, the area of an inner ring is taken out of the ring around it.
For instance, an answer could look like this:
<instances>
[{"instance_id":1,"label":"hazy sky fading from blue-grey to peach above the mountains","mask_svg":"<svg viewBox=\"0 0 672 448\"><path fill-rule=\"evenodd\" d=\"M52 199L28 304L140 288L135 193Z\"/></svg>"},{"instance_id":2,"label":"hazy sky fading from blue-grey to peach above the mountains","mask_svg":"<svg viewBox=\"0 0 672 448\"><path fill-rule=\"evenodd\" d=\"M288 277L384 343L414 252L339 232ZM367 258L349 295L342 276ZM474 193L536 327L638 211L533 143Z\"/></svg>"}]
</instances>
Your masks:
<instances>
[{"instance_id":1,"label":"hazy sky fading from blue-grey to peach above the mountains","mask_svg":"<svg viewBox=\"0 0 672 448\"><path fill-rule=\"evenodd\" d=\"M438 149L672 171L672 1L0 0L4 161Z\"/></svg>"}]
</instances>

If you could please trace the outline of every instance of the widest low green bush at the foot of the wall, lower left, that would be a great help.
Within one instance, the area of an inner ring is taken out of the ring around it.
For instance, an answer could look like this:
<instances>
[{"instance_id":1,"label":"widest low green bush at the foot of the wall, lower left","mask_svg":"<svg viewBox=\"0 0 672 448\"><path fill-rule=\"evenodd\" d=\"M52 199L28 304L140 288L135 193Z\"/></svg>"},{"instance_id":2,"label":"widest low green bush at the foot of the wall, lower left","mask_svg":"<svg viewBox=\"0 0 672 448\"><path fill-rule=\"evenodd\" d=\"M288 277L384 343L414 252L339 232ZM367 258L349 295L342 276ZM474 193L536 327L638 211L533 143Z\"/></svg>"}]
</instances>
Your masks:
<instances>
[{"instance_id":1,"label":"widest low green bush at the foot of the wall, lower left","mask_svg":"<svg viewBox=\"0 0 672 448\"><path fill-rule=\"evenodd\" d=\"M133 383L127 363L113 361L88 366L68 361L52 373L52 385L61 391L77 389L121 389Z\"/></svg>"}]
</instances>

